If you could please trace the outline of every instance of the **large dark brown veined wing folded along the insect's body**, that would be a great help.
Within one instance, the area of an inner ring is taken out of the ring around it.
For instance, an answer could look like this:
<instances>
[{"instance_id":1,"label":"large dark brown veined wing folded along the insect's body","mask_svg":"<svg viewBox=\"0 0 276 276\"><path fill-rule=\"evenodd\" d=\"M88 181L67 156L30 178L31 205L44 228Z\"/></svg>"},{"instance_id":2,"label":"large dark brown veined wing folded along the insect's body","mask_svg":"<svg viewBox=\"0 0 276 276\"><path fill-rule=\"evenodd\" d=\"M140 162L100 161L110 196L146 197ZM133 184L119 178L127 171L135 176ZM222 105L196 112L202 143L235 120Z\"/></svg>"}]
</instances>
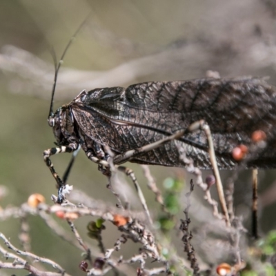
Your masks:
<instances>
[{"instance_id":1,"label":"large dark brown veined wing folded along the insect's body","mask_svg":"<svg viewBox=\"0 0 276 276\"><path fill-rule=\"evenodd\" d=\"M108 144L117 152L157 141L176 130L187 128L199 119L204 119L210 126L220 168L235 165L231 157L233 148L238 144L250 144L254 130L264 130L268 136L268 146L276 146L273 129L276 119L276 92L275 88L262 79L148 82L129 86L126 90L104 88L102 92L97 91L97 97L93 96L95 90L88 92L89 96L83 108L87 108L88 113L92 112L93 118L101 117L108 127L101 137L96 133L99 130L86 133L95 141ZM93 118L86 119L95 124ZM78 119L77 121L79 122ZM118 124L115 124L116 122ZM120 125L120 122L125 125ZM80 127L83 129L81 124ZM108 135L104 135L106 131L116 136L114 143ZM122 144L119 141L122 141ZM193 132L182 137L180 141L197 166L210 166L204 132ZM159 148L158 154L150 152L151 159L147 159L145 154L139 155L139 159L150 160L152 162L149 163L155 164L183 166L177 160L179 156L175 142L166 146ZM268 148L250 165L274 167L275 155ZM171 156L172 161L168 161Z\"/></svg>"}]
</instances>

